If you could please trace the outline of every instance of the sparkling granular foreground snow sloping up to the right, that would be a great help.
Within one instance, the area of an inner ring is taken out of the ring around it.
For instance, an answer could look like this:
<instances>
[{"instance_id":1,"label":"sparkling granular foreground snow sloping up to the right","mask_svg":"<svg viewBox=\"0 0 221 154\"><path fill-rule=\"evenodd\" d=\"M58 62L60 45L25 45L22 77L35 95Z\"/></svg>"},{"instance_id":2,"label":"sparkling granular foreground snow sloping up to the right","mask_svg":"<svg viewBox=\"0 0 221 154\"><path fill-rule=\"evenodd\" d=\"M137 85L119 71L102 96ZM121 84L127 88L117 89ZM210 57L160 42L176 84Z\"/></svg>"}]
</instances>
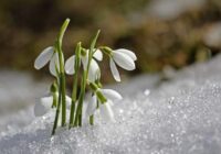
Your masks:
<instances>
[{"instance_id":1,"label":"sparkling granular foreground snow sloping up to the right","mask_svg":"<svg viewBox=\"0 0 221 154\"><path fill-rule=\"evenodd\" d=\"M221 55L160 85L157 76L141 76L114 86L124 96L114 106L114 123L96 119L94 127L61 129L52 138L53 112L12 125L0 134L0 153L220 154L220 66ZM29 117L31 109L23 112Z\"/></svg>"}]
</instances>

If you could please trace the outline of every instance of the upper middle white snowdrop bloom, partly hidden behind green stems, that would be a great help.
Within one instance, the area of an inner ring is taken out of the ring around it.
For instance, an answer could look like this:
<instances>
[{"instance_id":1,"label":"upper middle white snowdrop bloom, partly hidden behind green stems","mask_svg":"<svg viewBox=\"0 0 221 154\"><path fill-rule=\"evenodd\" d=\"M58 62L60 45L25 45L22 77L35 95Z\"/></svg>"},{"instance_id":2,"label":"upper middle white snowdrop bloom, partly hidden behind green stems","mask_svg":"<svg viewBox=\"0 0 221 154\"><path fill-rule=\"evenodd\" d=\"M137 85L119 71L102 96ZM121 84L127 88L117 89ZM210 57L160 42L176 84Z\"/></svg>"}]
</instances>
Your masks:
<instances>
[{"instance_id":1,"label":"upper middle white snowdrop bloom, partly hidden behind green stems","mask_svg":"<svg viewBox=\"0 0 221 154\"><path fill-rule=\"evenodd\" d=\"M96 50L93 57L97 61L102 61L103 54L99 50ZM74 68L75 67L75 58L76 58L76 56L73 55L65 63L65 72L66 72L67 75L75 74L75 68ZM91 66L90 66L90 70L88 70L88 80L90 81L95 81L97 78L101 77L99 66L94 58L92 58L92 61L91 61ZM86 67L87 67L87 64L88 64L88 50L86 51L85 56L83 56L83 55L81 56L81 62L83 64L84 70L86 70Z\"/></svg>"}]
</instances>

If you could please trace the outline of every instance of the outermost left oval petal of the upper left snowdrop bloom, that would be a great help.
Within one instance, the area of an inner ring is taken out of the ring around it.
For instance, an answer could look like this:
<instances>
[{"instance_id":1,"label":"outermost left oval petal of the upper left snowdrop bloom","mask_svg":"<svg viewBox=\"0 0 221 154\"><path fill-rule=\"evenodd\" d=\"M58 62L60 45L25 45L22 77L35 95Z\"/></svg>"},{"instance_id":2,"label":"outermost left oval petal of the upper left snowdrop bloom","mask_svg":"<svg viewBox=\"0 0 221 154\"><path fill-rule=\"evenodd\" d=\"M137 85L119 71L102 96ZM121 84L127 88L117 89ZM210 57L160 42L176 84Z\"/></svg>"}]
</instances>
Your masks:
<instances>
[{"instance_id":1,"label":"outermost left oval petal of the upper left snowdrop bloom","mask_svg":"<svg viewBox=\"0 0 221 154\"><path fill-rule=\"evenodd\" d=\"M46 65L46 63L52 58L52 55L54 53L54 47L50 46L46 47L35 59L34 62L34 68L40 69Z\"/></svg>"}]
</instances>

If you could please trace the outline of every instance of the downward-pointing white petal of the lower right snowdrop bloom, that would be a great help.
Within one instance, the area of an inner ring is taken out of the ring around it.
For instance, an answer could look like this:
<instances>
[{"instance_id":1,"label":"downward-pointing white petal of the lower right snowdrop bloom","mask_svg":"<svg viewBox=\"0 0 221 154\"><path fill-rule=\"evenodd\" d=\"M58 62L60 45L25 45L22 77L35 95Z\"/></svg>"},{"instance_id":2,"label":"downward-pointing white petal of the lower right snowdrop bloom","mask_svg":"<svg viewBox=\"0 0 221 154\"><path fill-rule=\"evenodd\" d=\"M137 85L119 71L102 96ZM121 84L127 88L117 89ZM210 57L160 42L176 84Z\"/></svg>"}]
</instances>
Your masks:
<instances>
[{"instance_id":1,"label":"downward-pointing white petal of the lower right snowdrop bloom","mask_svg":"<svg viewBox=\"0 0 221 154\"><path fill-rule=\"evenodd\" d=\"M115 121L114 112L108 102L106 102L99 107L99 112L101 112L102 118L104 118L105 121Z\"/></svg>"}]
</instances>

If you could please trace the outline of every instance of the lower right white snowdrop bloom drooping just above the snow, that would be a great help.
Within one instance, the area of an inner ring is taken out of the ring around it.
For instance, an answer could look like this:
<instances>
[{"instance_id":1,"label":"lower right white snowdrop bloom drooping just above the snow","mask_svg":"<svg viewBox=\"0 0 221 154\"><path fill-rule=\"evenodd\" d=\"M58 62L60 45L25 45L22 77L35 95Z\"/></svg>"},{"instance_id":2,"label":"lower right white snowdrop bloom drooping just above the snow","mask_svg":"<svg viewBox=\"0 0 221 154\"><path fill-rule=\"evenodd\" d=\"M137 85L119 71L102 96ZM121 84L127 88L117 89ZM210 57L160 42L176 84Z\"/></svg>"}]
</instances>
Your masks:
<instances>
[{"instance_id":1,"label":"lower right white snowdrop bloom drooping just above the snow","mask_svg":"<svg viewBox=\"0 0 221 154\"><path fill-rule=\"evenodd\" d=\"M107 99L106 102L101 102L98 98L99 92ZM113 89L97 89L96 95L94 95L91 102L88 102L86 117L94 114L94 112L98 110L101 117L106 121L115 121L114 112L112 110L112 106L114 106L113 101L120 100L123 97ZM99 108L97 109L97 107Z\"/></svg>"}]
</instances>

